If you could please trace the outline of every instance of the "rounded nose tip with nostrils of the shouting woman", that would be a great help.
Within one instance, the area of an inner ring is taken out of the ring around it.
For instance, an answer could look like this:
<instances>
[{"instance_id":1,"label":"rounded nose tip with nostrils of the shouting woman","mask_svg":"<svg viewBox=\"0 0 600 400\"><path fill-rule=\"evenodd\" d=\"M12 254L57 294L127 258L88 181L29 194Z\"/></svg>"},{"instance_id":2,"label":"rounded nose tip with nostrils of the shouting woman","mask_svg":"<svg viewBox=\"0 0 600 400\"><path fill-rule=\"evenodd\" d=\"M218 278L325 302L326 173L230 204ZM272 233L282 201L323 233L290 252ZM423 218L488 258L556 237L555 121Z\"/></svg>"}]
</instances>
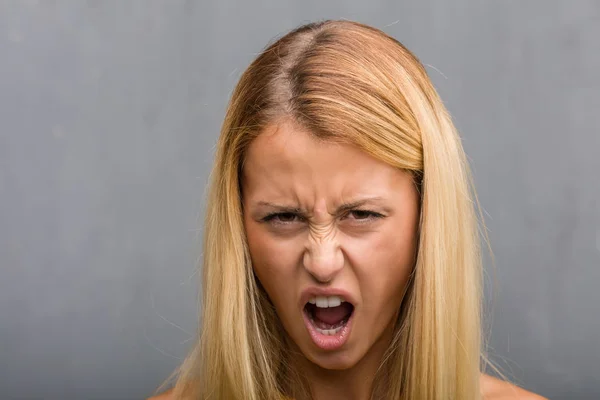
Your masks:
<instances>
[{"instance_id":1,"label":"rounded nose tip with nostrils of the shouting woman","mask_svg":"<svg viewBox=\"0 0 600 400\"><path fill-rule=\"evenodd\" d=\"M311 240L304 252L304 268L320 283L328 283L344 267L344 254L335 240Z\"/></svg>"}]
</instances>

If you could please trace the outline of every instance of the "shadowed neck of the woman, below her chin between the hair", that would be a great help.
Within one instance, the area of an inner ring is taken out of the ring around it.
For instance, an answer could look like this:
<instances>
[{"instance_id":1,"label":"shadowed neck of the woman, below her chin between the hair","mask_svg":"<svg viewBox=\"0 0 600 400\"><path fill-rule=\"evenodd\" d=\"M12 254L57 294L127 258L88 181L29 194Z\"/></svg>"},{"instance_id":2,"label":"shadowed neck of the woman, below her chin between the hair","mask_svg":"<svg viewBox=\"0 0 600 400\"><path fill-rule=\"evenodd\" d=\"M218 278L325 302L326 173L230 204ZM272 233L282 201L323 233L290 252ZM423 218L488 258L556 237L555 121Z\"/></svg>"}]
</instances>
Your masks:
<instances>
[{"instance_id":1,"label":"shadowed neck of the woman, below her chin between the hair","mask_svg":"<svg viewBox=\"0 0 600 400\"><path fill-rule=\"evenodd\" d=\"M375 378L393 334L394 324L392 323L359 362L344 370L325 369L301 356L297 360L296 367L301 376L308 381L312 399L370 400L378 398L373 396Z\"/></svg>"}]
</instances>

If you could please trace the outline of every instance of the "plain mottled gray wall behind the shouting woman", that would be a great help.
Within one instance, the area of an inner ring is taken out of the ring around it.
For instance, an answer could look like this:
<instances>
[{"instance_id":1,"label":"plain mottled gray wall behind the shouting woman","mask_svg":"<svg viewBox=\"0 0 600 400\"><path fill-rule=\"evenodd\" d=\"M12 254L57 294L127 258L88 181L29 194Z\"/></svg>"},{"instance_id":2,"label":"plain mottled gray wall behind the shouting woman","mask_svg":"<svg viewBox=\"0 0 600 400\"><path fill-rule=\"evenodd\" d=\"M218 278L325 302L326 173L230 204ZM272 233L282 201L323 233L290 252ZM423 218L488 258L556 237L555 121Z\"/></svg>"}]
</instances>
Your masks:
<instances>
[{"instance_id":1,"label":"plain mottled gray wall behind the shouting woman","mask_svg":"<svg viewBox=\"0 0 600 400\"><path fill-rule=\"evenodd\" d=\"M0 397L141 398L177 365L230 91L322 18L402 41L454 115L496 255L492 358L600 398L594 0L1 0Z\"/></svg>"}]
</instances>

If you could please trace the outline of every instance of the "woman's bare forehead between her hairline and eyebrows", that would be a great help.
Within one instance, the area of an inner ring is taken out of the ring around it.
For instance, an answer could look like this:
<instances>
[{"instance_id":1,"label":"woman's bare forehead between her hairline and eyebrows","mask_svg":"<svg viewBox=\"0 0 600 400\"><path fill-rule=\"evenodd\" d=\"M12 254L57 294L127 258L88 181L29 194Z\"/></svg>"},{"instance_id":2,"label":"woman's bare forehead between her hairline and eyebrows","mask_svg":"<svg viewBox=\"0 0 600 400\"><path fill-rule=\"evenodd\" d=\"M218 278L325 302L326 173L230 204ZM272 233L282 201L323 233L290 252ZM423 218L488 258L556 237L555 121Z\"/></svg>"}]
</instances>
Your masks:
<instances>
[{"instance_id":1,"label":"woman's bare forehead between her hairline and eyebrows","mask_svg":"<svg viewBox=\"0 0 600 400\"><path fill-rule=\"evenodd\" d=\"M389 194L407 176L358 147L319 140L284 120L267 126L250 144L242 183L245 198L335 202Z\"/></svg>"}]
</instances>

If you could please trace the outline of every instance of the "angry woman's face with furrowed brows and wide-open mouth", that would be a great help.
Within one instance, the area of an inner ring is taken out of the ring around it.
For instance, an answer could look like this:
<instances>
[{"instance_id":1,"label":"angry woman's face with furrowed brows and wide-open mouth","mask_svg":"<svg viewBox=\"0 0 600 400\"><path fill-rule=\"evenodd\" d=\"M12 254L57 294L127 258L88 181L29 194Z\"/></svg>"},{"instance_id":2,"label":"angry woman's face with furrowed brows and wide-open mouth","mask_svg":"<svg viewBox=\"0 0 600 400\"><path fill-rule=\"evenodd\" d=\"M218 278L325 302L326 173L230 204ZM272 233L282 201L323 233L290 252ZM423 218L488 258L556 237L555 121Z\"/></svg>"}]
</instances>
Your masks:
<instances>
[{"instance_id":1,"label":"angry woman's face with furrowed brows and wide-open mouth","mask_svg":"<svg viewBox=\"0 0 600 400\"><path fill-rule=\"evenodd\" d=\"M415 262L411 175L283 120L250 145L242 192L254 271L306 358L347 369L387 346Z\"/></svg>"}]
</instances>

